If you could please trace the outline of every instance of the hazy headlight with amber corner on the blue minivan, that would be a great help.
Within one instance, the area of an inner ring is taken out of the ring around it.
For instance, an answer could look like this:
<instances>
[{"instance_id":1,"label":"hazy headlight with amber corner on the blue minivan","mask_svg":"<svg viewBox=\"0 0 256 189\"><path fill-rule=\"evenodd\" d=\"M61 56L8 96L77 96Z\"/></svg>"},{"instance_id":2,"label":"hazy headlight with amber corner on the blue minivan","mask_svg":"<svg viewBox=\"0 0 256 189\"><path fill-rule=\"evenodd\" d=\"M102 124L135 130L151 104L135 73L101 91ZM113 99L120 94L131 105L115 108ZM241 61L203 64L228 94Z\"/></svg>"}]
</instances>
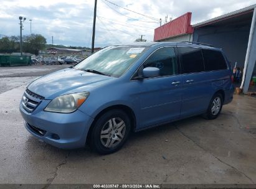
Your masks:
<instances>
[{"instance_id":1,"label":"hazy headlight with amber corner on the blue minivan","mask_svg":"<svg viewBox=\"0 0 256 189\"><path fill-rule=\"evenodd\" d=\"M53 99L44 111L51 111L55 113L72 113L77 110L83 102L88 98L89 92L73 93L58 96Z\"/></svg>"}]
</instances>

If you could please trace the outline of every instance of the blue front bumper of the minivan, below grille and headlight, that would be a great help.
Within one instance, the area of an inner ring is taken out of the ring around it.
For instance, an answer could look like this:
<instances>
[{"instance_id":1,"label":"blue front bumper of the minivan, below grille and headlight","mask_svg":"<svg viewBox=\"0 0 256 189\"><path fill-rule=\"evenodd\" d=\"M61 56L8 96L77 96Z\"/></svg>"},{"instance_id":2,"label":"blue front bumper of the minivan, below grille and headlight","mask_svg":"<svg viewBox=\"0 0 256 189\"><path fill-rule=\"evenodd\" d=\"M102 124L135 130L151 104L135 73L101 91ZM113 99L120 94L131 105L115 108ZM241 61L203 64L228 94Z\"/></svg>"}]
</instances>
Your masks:
<instances>
[{"instance_id":1,"label":"blue front bumper of the minivan, below grille and headlight","mask_svg":"<svg viewBox=\"0 0 256 189\"><path fill-rule=\"evenodd\" d=\"M27 131L61 149L84 147L93 118L79 110L70 114L44 111L45 104L48 103L40 103L32 113L28 113L20 104L19 109Z\"/></svg>"}]
</instances>

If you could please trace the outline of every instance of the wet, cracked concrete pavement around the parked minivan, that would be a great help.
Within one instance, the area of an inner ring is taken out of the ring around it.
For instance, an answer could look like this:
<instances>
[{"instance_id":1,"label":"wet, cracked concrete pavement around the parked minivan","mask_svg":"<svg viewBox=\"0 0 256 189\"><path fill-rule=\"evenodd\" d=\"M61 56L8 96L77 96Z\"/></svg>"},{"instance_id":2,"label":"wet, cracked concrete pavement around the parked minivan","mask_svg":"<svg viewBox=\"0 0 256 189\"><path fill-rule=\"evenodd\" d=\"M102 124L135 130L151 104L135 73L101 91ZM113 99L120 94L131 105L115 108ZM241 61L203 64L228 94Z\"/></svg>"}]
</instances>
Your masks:
<instances>
[{"instance_id":1,"label":"wet, cracked concrete pavement around the parked minivan","mask_svg":"<svg viewBox=\"0 0 256 189\"><path fill-rule=\"evenodd\" d=\"M22 93L37 76L69 66L0 67L1 184L256 183L256 98L250 96L235 95L216 120L197 116L132 134L115 154L37 140L19 113Z\"/></svg>"}]
</instances>

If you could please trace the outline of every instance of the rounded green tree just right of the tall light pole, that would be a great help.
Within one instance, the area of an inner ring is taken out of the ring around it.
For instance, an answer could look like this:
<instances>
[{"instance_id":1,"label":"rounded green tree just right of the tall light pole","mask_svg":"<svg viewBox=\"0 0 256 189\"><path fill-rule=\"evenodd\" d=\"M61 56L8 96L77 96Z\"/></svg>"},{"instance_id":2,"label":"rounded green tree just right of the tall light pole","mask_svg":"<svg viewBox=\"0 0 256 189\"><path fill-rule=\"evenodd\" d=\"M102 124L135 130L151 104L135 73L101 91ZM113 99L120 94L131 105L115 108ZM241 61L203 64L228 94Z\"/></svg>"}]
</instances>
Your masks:
<instances>
[{"instance_id":1,"label":"rounded green tree just right of the tall light pole","mask_svg":"<svg viewBox=\"0 0 256 189\"><path fill-rule=\"evenodd\" d=\"M39 50L45 48L46 39L40 34L31 34L24 37L24 52L38 55Z\"/></svg>"}]
</instances>

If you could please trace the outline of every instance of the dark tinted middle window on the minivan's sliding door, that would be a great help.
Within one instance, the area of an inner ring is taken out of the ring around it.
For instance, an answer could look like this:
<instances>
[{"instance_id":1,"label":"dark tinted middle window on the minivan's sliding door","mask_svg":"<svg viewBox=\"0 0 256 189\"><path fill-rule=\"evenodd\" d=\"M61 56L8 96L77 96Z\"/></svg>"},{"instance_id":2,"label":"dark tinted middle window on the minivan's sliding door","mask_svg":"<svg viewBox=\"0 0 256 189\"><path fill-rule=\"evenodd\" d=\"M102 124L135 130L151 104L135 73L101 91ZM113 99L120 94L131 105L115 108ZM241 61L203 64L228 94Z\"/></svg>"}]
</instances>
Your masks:
<instances>
[{"instance_id":1,"label":"dark tinted middle window on the minivan's sliding door","mask_svg":"<svg viewBox=\"0 0 256 189\"><path fill-rule=\"evenodd\" d=\"M183 73L204 71L204 59L200 48L178 47Z\"/></svg>"}]
</instances>

